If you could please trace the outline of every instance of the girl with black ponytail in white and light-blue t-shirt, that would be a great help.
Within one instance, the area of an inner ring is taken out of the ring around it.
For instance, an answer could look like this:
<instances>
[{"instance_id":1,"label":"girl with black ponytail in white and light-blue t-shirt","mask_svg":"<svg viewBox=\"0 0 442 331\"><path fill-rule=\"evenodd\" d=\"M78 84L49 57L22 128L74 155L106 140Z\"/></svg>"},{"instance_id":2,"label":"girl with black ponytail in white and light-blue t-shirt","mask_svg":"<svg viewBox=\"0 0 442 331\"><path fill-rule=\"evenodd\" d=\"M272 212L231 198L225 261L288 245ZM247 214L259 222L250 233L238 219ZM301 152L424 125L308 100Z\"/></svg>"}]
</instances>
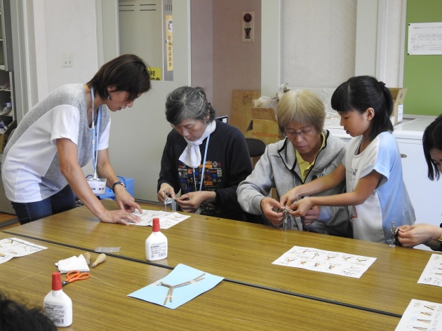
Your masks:
<instances>
[{"instance_id":1,"label":"girl with black ponytail in white and light-blue t-shirt","mask_svg":"<svg viewBox=\"0 0 442 331\"><path fill-rule=\"evenodd\" d=\"M347 205L355 239L391 243L391 222L396 227L415 222L399 146L392 134L391 93L374 77L355 76L337 87L331 106L352 137L342 163L333 173L291 189L280 202L295 210L290 212L293 216L304 216L314 205ZM309 196L344 180L346 193Z\"/></svg>"}]
</instances>

